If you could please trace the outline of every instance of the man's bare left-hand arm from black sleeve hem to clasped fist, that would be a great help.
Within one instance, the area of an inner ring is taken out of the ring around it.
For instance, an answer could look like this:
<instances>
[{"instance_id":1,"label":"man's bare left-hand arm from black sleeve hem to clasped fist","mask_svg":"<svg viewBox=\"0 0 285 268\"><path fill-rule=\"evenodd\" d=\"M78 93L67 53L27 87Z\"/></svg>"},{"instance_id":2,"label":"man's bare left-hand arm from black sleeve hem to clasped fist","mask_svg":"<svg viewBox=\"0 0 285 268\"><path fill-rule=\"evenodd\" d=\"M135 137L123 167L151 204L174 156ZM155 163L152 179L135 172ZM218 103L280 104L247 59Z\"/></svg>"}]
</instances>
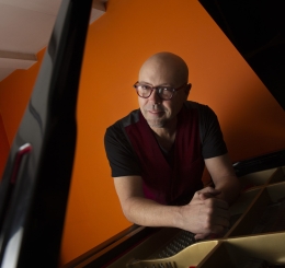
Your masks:
<instances>
[{"instance_id":1,"label":"man's bare left-hand arm from black sleeve hem to clasped fist","mask_svg":"<svg viewBox=\"0 0 285 268\"><path fill-rule=\"evenodd\" d=\"M180 228L193 233L221 233L228 228L228 205L218 198L203 200L201 195L219 190L204 188L185 206L164 206L144 197L140 176L115 177L114 184L125 217L144 226Z\"/></svg>"}]
</instances>

